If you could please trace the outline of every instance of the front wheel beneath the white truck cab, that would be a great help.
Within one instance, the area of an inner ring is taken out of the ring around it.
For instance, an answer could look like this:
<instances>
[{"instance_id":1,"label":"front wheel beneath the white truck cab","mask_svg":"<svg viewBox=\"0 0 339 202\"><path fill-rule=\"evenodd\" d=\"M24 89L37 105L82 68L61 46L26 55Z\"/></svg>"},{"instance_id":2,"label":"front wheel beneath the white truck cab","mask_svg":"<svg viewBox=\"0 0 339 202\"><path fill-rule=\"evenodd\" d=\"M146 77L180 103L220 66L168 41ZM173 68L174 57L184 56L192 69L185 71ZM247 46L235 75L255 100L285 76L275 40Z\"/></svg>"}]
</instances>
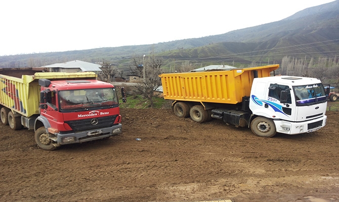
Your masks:
<instances>
[{"instance_id":1,"label":"front wheel beneath the white truck cab","mask_svg":"<svg viewBox=\"0 0 339 202\"><path fill-rule=\"evenodd\" d=\"M275 124L271 119L257 117L250 124L254 134L261 137L273 137L276 134Z\"/></svg>"}]
</instances>

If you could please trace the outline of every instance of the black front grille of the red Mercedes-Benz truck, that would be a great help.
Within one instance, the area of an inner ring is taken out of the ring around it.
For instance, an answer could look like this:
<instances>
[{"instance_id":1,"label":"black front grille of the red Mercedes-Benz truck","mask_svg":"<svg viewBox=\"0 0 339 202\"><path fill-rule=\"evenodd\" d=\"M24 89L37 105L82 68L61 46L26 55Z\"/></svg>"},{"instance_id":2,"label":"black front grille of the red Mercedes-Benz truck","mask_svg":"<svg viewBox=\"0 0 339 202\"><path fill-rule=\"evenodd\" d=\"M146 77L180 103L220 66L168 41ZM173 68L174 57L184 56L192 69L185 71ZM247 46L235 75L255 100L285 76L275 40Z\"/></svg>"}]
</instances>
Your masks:
<instances>
[{"instance_id":1,"label":"black front grille of the red Mercedes-Benz truck","mask_svg":"<svg viewBox=\"0 0 339 202\"><path fill-rule=\"evenodd\" d=\"M76 131L83 131L83 130L93 130L97 128L106 128L113 126L114 120L116 119L117 115L114 116L108 116L108 117L99 117L98 124L92 125L91 119L82 119L82 120L76 120L76 121L65 121L74 132Z\"/></svg>"}]
</instances>

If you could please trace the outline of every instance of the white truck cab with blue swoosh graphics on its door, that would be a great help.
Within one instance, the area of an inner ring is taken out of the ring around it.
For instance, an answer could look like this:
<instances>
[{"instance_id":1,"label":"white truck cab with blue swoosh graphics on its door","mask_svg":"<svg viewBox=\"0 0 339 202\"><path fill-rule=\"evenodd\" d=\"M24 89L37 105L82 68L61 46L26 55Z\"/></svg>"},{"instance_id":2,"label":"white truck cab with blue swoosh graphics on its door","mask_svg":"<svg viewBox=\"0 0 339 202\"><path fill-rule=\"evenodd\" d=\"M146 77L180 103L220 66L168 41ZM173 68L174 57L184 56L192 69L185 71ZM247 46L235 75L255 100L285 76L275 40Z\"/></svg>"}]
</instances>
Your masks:
<instances>
[{"instance_id":1,"label":"white truck cab with blue swoosh graphics on its door","mask_svg":"<svg viewBox=\"0 0 339 202\"><path fill-rule=\"evenodd\" d=\"M319 79L274 76L253 80L249 109L253 116L273 120L276 132L318 130L326 124L326 107L327 98Z\"/></svg>"}]
</instances>

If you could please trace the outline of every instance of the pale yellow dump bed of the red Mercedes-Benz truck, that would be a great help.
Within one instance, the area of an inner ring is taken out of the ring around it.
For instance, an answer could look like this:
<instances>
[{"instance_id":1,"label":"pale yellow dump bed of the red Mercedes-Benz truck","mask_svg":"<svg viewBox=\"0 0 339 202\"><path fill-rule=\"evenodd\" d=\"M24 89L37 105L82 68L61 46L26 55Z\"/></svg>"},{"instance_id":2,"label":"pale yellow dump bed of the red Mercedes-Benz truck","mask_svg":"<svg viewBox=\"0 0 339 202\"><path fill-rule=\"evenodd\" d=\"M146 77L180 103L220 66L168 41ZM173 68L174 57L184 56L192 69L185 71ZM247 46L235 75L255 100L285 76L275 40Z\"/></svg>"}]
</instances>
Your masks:
<instances>
[{"instance_id":1,"label":"pale yellow dump bed of the red Mercedes-Benz truck","mask_svg":"<svg viewBox=\"0 0 339 202\"><path fill-rule=\"evenodd\" d=\"M19 71L19 70L18 70ZM39 72L21 78L0 74L0 104L30 117L39 114L40 85L38 79L96 79L94 72L62 73Z\"/></svg>"}]
</instances>

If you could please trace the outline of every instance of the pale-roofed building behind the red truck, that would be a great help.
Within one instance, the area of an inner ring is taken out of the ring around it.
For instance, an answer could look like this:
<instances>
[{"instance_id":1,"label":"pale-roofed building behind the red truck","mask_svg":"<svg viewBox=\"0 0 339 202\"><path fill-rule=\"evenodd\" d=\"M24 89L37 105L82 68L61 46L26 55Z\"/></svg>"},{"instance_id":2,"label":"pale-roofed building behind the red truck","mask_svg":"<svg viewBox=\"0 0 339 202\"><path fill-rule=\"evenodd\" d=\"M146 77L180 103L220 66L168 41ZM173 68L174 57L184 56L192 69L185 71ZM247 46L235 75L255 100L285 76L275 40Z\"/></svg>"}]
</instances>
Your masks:
<instances>
[{"instance_id":1,"label":"pale-roofed building behind the red truck","mask_svg":"<svg viewBox=\"0 0 339 202\"><path fill-rule=\"evenodd\" d=\"M69 61L65 63L56 63L53 65L46 65L43 68L48 68L49 72L66 72L66 73L75 73L75 72L95 72L97 75L100 75L102 70L101 65L83 62L79 60Z\"/></svg>"}]
</instances>

